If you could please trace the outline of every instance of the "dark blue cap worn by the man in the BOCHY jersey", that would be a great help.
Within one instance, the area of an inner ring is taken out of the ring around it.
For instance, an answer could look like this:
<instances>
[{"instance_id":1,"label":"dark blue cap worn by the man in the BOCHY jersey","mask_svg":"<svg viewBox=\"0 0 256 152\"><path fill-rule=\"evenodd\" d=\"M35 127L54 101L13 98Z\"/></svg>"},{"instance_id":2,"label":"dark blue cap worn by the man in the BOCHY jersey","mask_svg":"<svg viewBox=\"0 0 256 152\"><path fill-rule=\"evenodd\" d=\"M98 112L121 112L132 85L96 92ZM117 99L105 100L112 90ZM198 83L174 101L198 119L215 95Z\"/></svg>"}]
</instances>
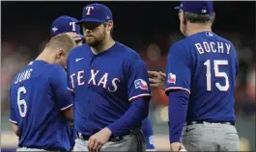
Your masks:
<instances>
[{"instance_id":1,"label":"dark blue cap worn by the man in the BOCHY jersey","mask_svg":"<svg viewBox=\"0 0 256 152\"><path fill-rule=\"evenodd\" d=\"M213 13L213 1L182 1L176 10L183 10L187 13L211 14Z\"/></svg>"}]
</instances>

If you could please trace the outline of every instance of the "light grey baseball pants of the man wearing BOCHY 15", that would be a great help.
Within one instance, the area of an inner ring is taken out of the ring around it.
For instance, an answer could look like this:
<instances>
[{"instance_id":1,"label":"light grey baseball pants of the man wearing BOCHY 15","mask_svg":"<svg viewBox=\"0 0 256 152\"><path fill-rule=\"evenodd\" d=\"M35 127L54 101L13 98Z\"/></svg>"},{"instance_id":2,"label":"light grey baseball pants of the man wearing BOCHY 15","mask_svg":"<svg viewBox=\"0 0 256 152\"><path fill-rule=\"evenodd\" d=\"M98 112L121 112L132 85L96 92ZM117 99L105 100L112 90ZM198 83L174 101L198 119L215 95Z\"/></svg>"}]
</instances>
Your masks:
<instances>
[{"instance_id":1,"label":"light grey baseball pants of the man wearing BOCHY 15","mask_svg":"<svg viewBox=\"0 0 256 152\"><path fill-rule=\"evenodd\" d=\"M240 140L235 126L203 122L185 125L182 143L187 151L240 151Z\"/></svg>"}]
</instances>

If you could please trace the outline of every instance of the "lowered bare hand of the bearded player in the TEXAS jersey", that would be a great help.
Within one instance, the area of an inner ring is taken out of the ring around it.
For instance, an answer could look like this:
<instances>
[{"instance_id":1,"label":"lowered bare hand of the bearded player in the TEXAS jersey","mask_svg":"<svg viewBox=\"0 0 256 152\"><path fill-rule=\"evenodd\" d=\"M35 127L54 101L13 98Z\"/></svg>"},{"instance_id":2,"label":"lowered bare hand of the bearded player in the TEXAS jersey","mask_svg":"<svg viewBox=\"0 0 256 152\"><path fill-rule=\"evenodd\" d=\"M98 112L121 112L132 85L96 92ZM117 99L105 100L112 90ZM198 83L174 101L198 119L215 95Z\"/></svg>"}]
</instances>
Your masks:
<instances>
[{"instance_id":1,"label":"lowered bare hand of the bearded player in the TEXAS jersey","mask_svg":"<svg viewBox=\"0 0 256 152\"><path fill-rule=\"evenodd\" d=\"M103 128L100 132L91 136L88 143L88 149L91 152L100 151L100 148L108 141L112 132L107 128Z\"/></svg>"}]
</instances>

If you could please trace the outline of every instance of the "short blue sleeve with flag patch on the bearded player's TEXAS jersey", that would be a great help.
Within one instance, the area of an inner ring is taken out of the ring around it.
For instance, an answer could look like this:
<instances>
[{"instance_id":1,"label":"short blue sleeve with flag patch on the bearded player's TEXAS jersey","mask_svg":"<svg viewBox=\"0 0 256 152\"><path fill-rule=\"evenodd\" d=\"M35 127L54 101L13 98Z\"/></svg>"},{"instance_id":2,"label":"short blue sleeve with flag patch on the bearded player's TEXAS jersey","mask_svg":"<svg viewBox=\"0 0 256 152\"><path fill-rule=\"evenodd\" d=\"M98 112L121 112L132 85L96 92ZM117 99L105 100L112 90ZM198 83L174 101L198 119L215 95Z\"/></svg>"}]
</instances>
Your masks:
<instances>
[{"instance_id":1,"label":"short blue sleeve with flag patch on the bearded player's TEXAS jersey","mask_svg":"<svg viewBox=\"0 0 256 152\"><path fill-rule=\"evenodd\" d=\"M141 60L129 62L126 67L128 79L128 101L139 97L151 96L147 65Z\"/></svg>"}]
</instances>

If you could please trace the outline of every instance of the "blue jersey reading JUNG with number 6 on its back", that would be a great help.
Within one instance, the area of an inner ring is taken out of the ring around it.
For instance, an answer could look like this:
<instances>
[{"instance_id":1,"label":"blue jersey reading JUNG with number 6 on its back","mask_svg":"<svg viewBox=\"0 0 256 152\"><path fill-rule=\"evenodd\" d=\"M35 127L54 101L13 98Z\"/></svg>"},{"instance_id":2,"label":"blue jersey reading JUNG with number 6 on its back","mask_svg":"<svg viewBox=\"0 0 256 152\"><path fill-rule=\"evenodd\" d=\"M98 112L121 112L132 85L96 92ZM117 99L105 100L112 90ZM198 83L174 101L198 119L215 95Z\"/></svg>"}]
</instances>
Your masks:
<instances>
[{"instance_id":1,"label":"blue jersey reading JUNG with number 6 on its back","mask_svg":"<svg viewBox=\"0 0 256 152\"><path fill-rule=\"evenodd\" d=\"M10 121L18 126L18 147L71 149L70 122L61 115L71 107L63 67L29 63L14 77L10 96Z\"/></svg>"}]
</instances>

